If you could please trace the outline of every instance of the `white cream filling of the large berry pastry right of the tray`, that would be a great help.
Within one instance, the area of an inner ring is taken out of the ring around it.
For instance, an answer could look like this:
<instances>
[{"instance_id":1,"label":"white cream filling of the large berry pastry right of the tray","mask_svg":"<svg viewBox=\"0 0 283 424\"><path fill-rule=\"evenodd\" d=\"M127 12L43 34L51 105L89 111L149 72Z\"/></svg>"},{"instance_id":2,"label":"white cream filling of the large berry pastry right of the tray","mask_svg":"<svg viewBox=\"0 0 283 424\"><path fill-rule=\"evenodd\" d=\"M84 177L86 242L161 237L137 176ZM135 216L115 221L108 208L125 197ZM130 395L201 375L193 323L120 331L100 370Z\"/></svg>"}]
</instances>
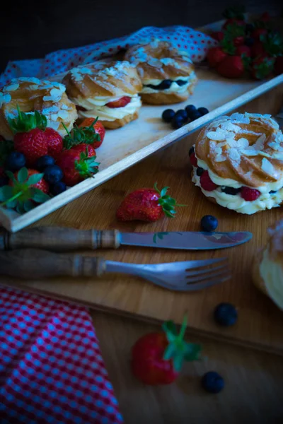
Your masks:
<instances>
[{"instance_id":1,"label":"white cream filling of the large berry pastry right of the tray","mask_svg":"<svg viewBox=\"0 0 283 424\"><path fill-rule=\"evenodd\" d=\"M198 160L198 162L200 165L200 162L202 161ZM208 169L208 168L206 167L205 169ZM209 170L209 177L212 179L212 172L210 170ZM223 182L219 184L221 186L228 185L229 187L236 187L236 186L231 186L231 184L226 184L226 182L229 181L229 179L225 180L221 178L221 181ZM202 186L200 185L200 177L197 175L196 167L193 167L192 182L194 182L197 187L200 187L204 196L214 197L217 204L219 204L220 206L224 206L224 208L231 209L238 213L246 213L246 215L252 215L253 213L258 211L265 211L265 209L276 208L280 206L280 204L283 201L283 188L282 188L283 183L280 189L276 193L264 192L260 194L258 199L254 201L246 201L245 199L243 199L243 197L241 197L240 194L233 195L233 194L227 194L227 193L221 192L221 187L218 187L212 192L207 192L207 190L202 189ZM215 184L218 184L218 183L215 182ZM237 187L238 188L243 187L243 184L242 185L238 184ZM250 187L250 188L253 188L253 187Z\"/></svg>"}]
</instances>

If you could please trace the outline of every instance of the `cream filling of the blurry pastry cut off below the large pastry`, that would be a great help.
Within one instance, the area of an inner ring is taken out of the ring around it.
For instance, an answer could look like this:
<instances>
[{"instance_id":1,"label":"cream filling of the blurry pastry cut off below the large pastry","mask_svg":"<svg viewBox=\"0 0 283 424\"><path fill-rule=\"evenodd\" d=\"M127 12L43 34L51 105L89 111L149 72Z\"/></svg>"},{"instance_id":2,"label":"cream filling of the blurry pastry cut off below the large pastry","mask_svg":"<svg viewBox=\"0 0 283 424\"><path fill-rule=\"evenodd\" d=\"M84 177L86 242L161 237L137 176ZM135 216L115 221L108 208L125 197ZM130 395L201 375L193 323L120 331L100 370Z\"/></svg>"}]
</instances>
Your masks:
<instances>
[{"instance_id":1,"label":"cream filling of the blurry pastry cut off below the large pastry","mask_svg":"<svg viewBox=\"0 0 283 424\"><path fill-rule=\"evenodd\" d=\"M282 264L270 259L268 247L262 254L262 261L260 262L260 276L265 283L265 288L270 298L281 310L283 310Z\"/></svg>"}]
</instances>

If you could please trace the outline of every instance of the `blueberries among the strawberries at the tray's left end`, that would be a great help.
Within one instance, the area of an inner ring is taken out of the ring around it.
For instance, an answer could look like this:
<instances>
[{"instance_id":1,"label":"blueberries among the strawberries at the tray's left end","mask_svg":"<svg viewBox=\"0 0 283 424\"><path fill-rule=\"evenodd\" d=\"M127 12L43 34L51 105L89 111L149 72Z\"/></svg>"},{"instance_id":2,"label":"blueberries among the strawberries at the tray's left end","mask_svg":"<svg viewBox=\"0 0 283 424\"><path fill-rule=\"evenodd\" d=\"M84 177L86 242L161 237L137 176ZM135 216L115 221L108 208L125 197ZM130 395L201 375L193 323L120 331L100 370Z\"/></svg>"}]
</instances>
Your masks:
<instances>
[{"instance_id":1,"label":"blueberries among the strawberries at the tray's left end","mask_svg":"<svg viewBox=\"0 0 283 424\"><path fill-rule=\"evenodd\" d=\"M11 172L17 172L25 167L25 156L23 153L13 151L6 158L5 170ZM38 158L34 169L44 173L44 179L50 184L50 193L54 196L64 192L67 187L62 178L64 177L62 169L55 165L55 160L51 156L45 155ZM2 176L0 185L8 184L8 177Z\"/></svg>"}]
</instances>

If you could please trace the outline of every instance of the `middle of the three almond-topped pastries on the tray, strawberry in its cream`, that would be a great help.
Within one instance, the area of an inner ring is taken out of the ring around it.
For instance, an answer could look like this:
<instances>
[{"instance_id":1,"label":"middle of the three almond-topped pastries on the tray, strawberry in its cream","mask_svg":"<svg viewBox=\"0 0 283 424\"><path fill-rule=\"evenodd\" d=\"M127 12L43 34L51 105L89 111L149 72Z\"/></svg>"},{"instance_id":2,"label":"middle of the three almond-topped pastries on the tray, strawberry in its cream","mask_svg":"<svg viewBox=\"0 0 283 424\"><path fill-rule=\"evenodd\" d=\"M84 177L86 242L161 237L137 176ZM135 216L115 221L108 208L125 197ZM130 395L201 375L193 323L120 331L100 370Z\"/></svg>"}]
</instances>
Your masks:
<instances>
[{"instance_id":1,"label":"middle of the three almond-topped pastries on the tray, strawberry in its cream","mask_svg":"<svg viewBox=\"0 0 283 424\"><path fill-rule=\"evenodd\" d=\"M115 129L139 116L141 80L127 61L78 66L67 73L63 83L82 119L98 117L105 128Z\"/></svg>"}]
</instances>

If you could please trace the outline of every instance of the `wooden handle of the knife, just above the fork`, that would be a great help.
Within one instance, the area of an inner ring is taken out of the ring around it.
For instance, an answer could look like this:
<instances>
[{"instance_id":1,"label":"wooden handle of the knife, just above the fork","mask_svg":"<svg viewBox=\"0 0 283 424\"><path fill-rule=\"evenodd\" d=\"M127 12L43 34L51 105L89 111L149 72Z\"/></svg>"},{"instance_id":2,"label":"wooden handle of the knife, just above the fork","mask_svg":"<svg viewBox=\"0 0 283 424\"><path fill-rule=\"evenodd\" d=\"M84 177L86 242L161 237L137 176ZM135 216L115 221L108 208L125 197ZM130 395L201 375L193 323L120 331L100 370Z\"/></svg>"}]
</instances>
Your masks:
<instances>
[{"instance_id":1,"label":"wooden handle of the knife, just above the fork","mask_svg":"<svg viewBox=\"0 0 283 424\"><path fill-rule=\"evenodd\" d=\"M62 227L35 227L16 233L0 234L0 250L24 248L68 252L76 249L110 249L120 246L117 230L76 230Z\"/></svg>"}]
</instances>

